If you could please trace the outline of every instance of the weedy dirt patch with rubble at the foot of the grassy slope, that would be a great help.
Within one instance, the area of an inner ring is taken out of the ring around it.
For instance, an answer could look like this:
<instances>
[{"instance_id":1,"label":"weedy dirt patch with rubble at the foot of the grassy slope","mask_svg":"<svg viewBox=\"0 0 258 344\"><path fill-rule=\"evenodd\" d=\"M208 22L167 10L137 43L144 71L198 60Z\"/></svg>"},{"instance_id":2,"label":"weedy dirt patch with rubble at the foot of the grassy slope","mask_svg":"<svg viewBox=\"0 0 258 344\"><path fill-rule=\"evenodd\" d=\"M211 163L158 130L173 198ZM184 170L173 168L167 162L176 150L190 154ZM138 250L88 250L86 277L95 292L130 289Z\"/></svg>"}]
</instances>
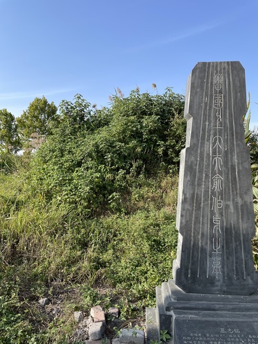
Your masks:
<instances>
[{"instance_id":1,"label":"weedy dirt patch with rubble at the foot of the grassy slope","mask_svg":"<svg viewBox=\"0 0 258 344\"><path fill-rule=\"evenodd\" d=\"M52 283L49 294L45 297L50 301L48 305L42 306L39 301L27 303L31 312L30 321L36 332L52 332L48 336L56 338L55 343L62 343L64 340L62 338L69 338L67 343L88 339L89 312L94 305L101 305L105 311L105 337L108 339L112 340L118 336L122 328L136 327L144 330L144 309L140 310L137 301L130 302L128 295L119 294L112 288L106 286L94 286L88 289L85 286L65 287L62 283L55 282ZM118 319L109 316L110 307L117 307L120 310ZM75 311L83 312L84 319L80 323L74 321Z\"/></svg>"}]
</instances>

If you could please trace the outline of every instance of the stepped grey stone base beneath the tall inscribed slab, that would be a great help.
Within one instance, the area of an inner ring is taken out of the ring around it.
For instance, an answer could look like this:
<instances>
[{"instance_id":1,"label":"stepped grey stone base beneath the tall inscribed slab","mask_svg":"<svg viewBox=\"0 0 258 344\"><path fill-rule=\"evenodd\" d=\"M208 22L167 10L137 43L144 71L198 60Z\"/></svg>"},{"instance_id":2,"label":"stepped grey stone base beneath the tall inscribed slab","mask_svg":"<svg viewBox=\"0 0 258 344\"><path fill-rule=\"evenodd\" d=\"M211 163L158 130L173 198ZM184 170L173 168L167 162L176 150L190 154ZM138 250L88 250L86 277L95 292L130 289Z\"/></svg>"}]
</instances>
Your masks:
<instances>
[{"instance_id":1,"label":"stepped grey stone base beneath the tall inscribed slab","mask_svg":"<svg viewBox=\"0 0 258 344\"><path fill-rule=\"evenodd\" d=\"M249 296L186 294L173 280L156 288L156 308L146 314L147 342L170 344L258 344L258 293Z\"/></svg>"}]
</instances>

